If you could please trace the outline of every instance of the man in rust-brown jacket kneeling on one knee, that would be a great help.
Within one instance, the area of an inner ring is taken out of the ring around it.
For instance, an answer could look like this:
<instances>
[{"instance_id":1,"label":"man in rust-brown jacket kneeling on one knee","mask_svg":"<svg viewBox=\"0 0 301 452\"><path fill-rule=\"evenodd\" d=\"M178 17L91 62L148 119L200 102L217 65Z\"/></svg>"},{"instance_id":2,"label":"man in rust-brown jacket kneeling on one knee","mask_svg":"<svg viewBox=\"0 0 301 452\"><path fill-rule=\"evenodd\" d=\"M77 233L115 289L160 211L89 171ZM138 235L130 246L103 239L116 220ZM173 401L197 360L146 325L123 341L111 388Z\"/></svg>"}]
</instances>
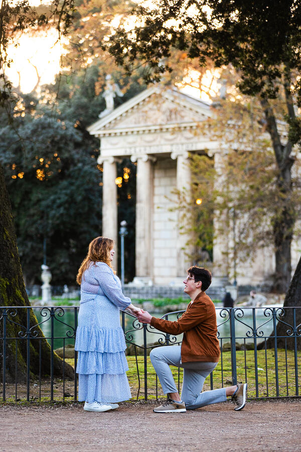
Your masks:
<instances>
[{"instance_id":1,"label":"man in rust-brown jacket kneeling on one knee","mask_svg":"<svg viewBox=\"0 0 301 452\"><path fill-rule=\"evenodd\" d=\"M205 290L211 284L211 273L201 267L187 270L184 292L191 301L185 313L177 321L153 317L148 312L138 313L139 321L150 323L160 331L183 334L182 346L167 346L153 349L150 361L157 372L168 400L155 408L156 413L181 413L212 403L224 402L232 397L235 410L245 406L247 384L201 392L206 377L216 368L220 348L217 339L215 306ZM183 386L181 397L177 391L170 366L182 367Z\"/></svg>"}]
</instances>

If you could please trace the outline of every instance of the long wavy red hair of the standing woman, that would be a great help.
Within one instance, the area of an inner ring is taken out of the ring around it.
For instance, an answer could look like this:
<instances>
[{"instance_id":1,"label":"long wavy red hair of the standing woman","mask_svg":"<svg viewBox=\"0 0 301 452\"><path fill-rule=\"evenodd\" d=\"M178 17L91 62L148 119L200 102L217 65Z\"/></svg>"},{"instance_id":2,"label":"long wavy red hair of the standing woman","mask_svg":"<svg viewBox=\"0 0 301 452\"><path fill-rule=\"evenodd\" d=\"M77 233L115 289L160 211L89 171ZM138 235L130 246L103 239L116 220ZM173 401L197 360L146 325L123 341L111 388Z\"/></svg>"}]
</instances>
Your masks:
<instances>
[{"instance_id":1,"label":"long wavy red hair of the standing woman","mask_svg":"<svg viewBox=\"0 0 301 452\"><path fill-rule=\"evenodd\" d=\"M89 268L91 262L104 262L112 268L110 251L113 249L114 241L105 237L96 237L89 244L88 254L79 267L76 281L81 284L83 274Z\"/></svg>"}]
</instances>

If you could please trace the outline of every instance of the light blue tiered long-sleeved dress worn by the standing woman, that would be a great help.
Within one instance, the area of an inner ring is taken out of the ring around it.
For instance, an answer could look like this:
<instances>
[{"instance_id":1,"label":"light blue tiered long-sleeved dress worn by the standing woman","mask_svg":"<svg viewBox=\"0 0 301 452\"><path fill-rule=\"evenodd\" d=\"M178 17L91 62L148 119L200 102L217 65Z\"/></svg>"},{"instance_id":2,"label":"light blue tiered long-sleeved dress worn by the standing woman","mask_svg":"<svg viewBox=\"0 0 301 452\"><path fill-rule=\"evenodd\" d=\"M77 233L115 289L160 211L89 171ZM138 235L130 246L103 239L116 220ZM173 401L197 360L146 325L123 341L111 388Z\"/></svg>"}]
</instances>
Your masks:
<instances>
[{"instance_id":1,"label":"light blue tiered long-sleeved dress worn by the standing woman","mask_svg":"<svg viewBox=\"0 0 301 452\"><path fill-rule=\"evenodd\" d=\"M131 397L119 314L119 308L130 303L112 269L104 262L91 263L82 278L76 330L79 401L120 402Z\"/></svg>"}]
</instances>

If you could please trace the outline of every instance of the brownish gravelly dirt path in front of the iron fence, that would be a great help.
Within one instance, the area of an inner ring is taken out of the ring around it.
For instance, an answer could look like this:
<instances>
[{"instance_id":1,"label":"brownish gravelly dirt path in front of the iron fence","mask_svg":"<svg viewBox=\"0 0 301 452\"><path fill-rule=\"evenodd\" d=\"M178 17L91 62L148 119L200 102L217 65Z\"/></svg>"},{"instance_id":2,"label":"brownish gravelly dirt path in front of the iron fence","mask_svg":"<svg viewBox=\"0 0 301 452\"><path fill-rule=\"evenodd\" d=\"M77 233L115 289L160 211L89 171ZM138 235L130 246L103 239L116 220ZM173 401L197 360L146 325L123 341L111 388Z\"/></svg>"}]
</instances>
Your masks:
<instances>
[{"instance_id":1,"label":"brownish gravelly dirt path in front of the iron fence","mask_svg":"<svg viewBox=\"0 0 301 452\"><path fill-rule=\"evenodd\" d=\"M121 403L105 413L83 405L2 405L1 452L301 451L301 400L230 402L178 414L156 414L158 402Z\"/></svg>"}]
</instances>

